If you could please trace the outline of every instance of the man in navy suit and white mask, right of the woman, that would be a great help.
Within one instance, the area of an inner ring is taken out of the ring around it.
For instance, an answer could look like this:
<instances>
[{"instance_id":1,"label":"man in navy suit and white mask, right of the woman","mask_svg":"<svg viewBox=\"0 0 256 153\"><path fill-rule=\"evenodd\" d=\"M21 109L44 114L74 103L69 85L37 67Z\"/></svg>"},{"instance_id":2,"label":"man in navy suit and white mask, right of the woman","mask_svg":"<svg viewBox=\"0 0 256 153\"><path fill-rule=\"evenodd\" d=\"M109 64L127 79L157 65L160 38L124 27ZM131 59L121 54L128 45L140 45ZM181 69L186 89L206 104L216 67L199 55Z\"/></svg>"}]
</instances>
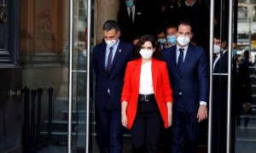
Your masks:
<instances>
[{"instance_id":1,"label":"man in navy suit and white mask, right of the woman","mask_svg":"<svg viewBox=\"0 0 256 153\"><path fill-rule=\"evenodd\" d=\"M172 84L172 153L196 152L198 122L207 118L209 65L203 48L189 44L188 20L177 28L177 45L163 52Z\"/></svg>"}]
</instances>

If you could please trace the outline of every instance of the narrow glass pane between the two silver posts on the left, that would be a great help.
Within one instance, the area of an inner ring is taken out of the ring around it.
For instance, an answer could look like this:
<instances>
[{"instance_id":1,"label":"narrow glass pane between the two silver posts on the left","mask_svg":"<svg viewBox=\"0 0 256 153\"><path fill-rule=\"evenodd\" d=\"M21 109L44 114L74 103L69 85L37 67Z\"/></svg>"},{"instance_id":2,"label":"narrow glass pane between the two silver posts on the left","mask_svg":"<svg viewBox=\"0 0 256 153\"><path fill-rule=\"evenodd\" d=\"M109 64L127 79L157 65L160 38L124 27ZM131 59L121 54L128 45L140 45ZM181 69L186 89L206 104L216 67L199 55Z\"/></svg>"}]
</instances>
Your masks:
<instances>
[{"instance_id":1,"label":"narrow glass pane between the two silver posts on the left","mask_svg":"<svg viewBox=\"0 0 256 153\"><path fill-rule=\"evenodd\" d=\"M73 1L73 110L72 151L85 150L87 0Z\"/></svg>"}]
</instances>

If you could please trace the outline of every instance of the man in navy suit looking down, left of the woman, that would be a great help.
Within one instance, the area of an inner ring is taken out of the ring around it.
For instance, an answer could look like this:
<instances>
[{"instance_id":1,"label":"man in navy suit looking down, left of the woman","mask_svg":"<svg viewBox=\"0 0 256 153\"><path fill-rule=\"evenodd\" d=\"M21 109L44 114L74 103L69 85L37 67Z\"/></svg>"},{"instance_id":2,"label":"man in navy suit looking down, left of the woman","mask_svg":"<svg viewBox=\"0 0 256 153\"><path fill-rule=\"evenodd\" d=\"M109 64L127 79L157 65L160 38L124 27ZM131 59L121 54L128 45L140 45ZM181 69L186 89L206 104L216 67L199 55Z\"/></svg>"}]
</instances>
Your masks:
<instances>
[{"instance_id":1,"label":"man in navy suit looking down, left of the woman","mask_svg":"<svg viewBox=\"0 0 256 153\"><path fill-rule=\"evenodd\" d=\"M93 51L96 73L96 139L101 153L122 152L121 92L133 45L119 40L119 25L107 20L104 41Z\"/></svg>"}]
</instances>

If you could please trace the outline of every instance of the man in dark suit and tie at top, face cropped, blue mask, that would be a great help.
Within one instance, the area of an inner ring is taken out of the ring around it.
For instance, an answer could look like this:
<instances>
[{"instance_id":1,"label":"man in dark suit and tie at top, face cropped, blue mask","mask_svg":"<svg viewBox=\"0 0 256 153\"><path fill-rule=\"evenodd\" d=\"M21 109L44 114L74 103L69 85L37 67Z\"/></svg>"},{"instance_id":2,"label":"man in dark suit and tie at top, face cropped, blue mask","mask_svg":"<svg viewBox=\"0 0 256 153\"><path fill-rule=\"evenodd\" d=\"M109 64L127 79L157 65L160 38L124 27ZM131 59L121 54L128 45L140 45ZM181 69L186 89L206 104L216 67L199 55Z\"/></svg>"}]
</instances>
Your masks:
<instances>
[{"instance_id":1,"label":"man in dark suit and tie at top, face cropped, blue mask","mask_svg":"<svg viewBox=\"0 0 256 153\"><path fill-rule=\"evenodd\" d=\"M119 8L118 22L121 30L120 38L126 42L144 34L143 9L134 0L124 0Z\"/></svg>"}]
</instances>

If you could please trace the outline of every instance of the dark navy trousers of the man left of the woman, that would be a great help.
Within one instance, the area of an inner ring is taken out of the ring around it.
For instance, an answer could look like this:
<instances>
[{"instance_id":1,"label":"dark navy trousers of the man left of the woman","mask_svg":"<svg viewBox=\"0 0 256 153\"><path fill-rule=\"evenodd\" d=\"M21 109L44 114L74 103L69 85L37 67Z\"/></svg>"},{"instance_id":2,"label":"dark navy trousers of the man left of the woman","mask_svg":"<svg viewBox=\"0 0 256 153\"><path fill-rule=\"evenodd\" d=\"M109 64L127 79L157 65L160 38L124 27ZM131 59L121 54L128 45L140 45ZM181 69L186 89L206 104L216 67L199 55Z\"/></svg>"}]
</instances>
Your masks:
<instances>
[{"instance_id":1,"label":"dark navy trousers of the man left of the woman","mask_svg":"<svg viewBox=\"0 0 256 153\"><path fill-rule=\"evenodd\" d=\"M121 153L122 139L121 112L96 110L96 140L100 153Z\"/></svg>"}]
</instances>

